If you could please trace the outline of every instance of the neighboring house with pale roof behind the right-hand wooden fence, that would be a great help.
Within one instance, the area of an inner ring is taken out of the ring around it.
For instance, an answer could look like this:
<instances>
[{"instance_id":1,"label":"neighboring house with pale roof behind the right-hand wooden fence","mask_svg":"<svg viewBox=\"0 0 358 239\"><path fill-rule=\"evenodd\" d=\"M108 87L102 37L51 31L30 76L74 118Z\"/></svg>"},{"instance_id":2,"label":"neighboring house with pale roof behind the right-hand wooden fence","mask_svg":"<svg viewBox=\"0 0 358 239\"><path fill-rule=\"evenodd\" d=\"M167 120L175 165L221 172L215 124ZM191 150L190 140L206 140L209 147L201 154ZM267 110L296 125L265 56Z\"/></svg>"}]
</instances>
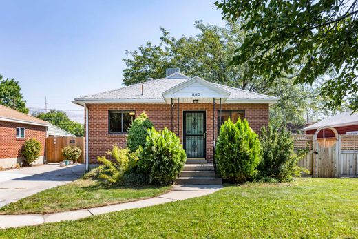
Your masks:
<instances>
[{"instance_id":1,"label":"neighboring house with pale roof behind the right-hand wooden fence","mask_svg":"<svg viewBox=\"0 0 358 239\"><path fill-rule=\"evenodd\" d=\"M352 113L352 111L343 112L330 118L326 118L323 121L314 123L304 127L302 130L305 134L315 134L316 130L322 127L333 127L337 130L338 134L358 134L358 112ZM330 129L320 130L317 134L318 138L330 138L335 137L335 134Z\"/></svg>"}]
</instances>

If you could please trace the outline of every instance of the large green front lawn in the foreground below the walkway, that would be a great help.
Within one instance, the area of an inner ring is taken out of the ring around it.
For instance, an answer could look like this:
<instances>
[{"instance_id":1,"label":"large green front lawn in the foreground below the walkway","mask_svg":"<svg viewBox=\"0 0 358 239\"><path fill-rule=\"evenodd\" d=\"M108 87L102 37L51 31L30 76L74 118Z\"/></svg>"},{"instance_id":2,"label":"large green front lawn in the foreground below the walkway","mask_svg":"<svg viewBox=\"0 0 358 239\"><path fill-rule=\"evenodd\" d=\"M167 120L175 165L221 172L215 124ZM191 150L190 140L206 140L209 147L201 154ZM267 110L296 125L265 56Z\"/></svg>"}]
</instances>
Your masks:
<instances>
[{"instance_id":1,"label":"large green front lawn in the foreground below the walkway","mask_svg":"<svg viewBox=\"0 0 358 239\"><path fill-rule=\"evenodd\" d=\"M165 205L6 229L0 237L358 238L358 180L231 186Z\"/></svg>"}]
</instances>

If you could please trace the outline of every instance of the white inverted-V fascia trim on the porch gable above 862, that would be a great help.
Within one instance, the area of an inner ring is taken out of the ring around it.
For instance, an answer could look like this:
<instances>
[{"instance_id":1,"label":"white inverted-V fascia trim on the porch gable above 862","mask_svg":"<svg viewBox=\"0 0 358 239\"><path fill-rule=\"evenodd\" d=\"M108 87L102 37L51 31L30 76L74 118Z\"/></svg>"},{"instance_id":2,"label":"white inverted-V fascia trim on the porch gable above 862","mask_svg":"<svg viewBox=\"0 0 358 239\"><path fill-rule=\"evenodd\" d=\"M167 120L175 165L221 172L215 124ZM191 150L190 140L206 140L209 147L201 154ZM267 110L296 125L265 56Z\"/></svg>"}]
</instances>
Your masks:
<instances>
[{"instance_id":1,"label":"white inverted-V fascia trim on the porch gable above 862","mask_svg":"<svg viewBox=\"0 0 358 239\"><path fill-rule=\"evenodd\" d=\"M218 92L218 94L222 94L221 98L227 98L230 96L230 92L228 92L227 90L224 90L216 85L213 85L209 81L205 81L204 79L200 78L199 76L194 76L193 78L188 79L187 81L184 81L174 87L171 87L170 89L163 92L162 96L164 98L172 98L171 96L173 93L178 92L179 90L182 90L185 87L188 87L189 85L191 85L194 82L201 83L202 85L210 88L211 90ZM197 97L193 97L193 98L197 98ZM220 97L217 97L217 98L220 98Z\"/></svg>"}]
</instances>

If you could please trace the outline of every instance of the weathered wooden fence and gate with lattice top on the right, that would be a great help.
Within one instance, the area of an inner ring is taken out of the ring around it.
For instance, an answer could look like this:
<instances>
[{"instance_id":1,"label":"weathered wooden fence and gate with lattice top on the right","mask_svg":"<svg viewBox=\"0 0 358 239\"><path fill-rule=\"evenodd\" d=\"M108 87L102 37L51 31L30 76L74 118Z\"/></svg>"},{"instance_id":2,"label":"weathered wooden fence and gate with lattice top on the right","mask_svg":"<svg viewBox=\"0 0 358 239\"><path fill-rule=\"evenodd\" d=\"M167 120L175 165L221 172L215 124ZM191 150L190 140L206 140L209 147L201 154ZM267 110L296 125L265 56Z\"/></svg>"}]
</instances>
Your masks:
<instances>
[{"instance_id":1,"label":"weathered wooden fence and gate with lattice top on the right","mask_svg":"<svg viewBox=\"0 0 358 239\"><path fill-rule=\"evenodd\" d=\"M337 138L317 138L294 135L295 151L308 149L299 166L313 177L357 177L358 136L339 135Z\"/></svg>"}]
</instances>

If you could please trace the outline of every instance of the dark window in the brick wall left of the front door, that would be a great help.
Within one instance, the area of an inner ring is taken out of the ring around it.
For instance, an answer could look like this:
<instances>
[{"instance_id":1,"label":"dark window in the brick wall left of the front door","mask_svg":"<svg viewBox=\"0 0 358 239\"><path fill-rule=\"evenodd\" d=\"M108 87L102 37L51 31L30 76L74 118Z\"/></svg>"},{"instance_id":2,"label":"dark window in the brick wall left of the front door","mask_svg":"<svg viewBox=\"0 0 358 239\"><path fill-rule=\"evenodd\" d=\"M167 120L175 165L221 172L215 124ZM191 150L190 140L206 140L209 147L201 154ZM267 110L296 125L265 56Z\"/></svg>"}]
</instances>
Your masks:
<instances>
[{"instance_id":1,"label":"dark window in the brick wall left of the front door","mask_svg":"<svg viewBox=\"0 0 358 239\"><path fill-rule=\"evenodd\" d=\"M136 112L134 111L111 110L108 114L108 131L110 134L128 132L129 127L136 116Z\"/></svg>"}]
</instances>

